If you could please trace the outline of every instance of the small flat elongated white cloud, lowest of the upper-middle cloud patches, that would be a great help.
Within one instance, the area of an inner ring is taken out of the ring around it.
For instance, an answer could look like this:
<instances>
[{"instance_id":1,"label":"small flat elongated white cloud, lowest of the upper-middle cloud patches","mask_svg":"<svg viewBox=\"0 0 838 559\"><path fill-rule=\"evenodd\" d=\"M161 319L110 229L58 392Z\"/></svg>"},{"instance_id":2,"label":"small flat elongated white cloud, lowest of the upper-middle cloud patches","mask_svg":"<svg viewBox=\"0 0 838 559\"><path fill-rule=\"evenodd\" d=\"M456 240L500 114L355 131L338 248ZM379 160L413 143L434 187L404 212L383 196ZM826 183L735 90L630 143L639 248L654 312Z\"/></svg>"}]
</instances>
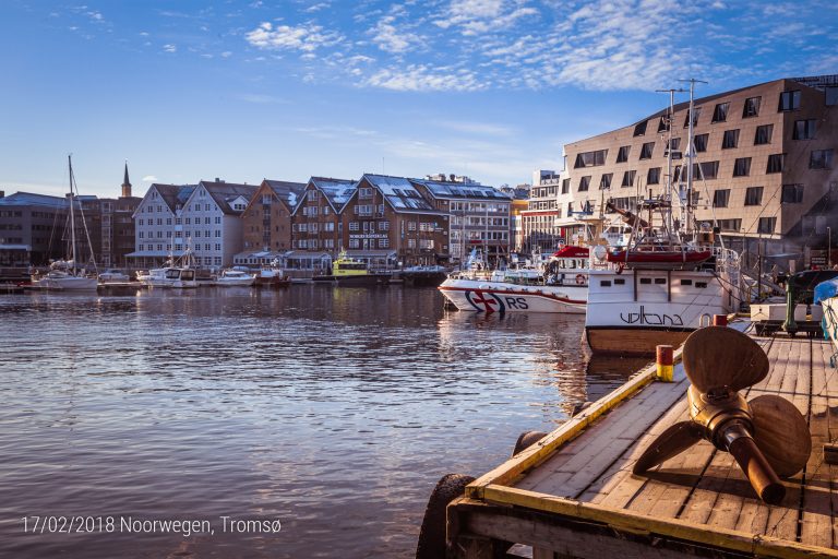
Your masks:
<instances>
[{"instance_id":1,"label":"small flat elongated white cloud, lowest of the upper-middle cloud patches","mask_svg":"<svg viewBox=\"0 0 838 559\"><path fill-rule=\"evenodd\" d=\"M423 64L383 69L366 81L367 85L403 92L475 91L484 87L469 70L451 71Z\"/></svg>"}]
</instances>

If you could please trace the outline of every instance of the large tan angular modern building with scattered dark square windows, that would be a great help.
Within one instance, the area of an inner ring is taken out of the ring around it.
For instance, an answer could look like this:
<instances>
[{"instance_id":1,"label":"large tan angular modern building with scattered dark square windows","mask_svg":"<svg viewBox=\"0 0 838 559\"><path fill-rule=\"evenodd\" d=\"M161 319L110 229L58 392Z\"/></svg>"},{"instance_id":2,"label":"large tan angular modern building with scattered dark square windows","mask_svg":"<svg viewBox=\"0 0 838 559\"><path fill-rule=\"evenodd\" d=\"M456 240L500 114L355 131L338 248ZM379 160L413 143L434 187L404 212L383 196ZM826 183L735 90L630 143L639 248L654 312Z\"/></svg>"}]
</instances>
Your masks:
<instances>
[{"instance_id":1,"label":"large tan angular modern building with scattered dark square windows","mask_svg":"<svg viewBox=\"0 0 838 559\"><path fill-rule=\"evenodd\" d=\"M696 99L697 221L715 223L737 250L756 253L762 245L764 254L799 257L803 264L813 249L835 246L827 235L838 230L836 104L838 75L775 80ZM671 182L686 200L687 111L689 104L679 103L672 115L665 108L565 145L565 203L598 212L603 199L632 209L638 197L663 194L668 150L675 157Z\"/></svg>"}]
</instances>

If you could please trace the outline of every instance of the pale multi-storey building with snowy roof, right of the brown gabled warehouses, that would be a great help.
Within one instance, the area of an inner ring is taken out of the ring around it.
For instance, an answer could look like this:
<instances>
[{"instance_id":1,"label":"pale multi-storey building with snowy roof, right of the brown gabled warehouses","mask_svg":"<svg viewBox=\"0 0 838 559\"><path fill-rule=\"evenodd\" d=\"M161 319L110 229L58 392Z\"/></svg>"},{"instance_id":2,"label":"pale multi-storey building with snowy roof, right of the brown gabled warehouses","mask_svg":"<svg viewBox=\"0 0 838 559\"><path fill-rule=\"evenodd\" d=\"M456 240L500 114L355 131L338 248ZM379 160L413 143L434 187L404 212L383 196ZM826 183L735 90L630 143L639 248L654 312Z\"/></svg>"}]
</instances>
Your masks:
<instances>
[{"instance_id":1,"label":"pale multi-storey building with snowy roof, right of the brown gabled warehouses","mask_svg":"<svg viewBox=\"0 0 838 559\"><path fill-rule=\"evenodd\" d=\"M445 258L462 262L472 248L479 248L492 264L507 260L510 195L472 180L457 179L453 175L448 180L409 179L435 211L447 214L448 241L442 251Z\"/></svg>"}]
</instances>

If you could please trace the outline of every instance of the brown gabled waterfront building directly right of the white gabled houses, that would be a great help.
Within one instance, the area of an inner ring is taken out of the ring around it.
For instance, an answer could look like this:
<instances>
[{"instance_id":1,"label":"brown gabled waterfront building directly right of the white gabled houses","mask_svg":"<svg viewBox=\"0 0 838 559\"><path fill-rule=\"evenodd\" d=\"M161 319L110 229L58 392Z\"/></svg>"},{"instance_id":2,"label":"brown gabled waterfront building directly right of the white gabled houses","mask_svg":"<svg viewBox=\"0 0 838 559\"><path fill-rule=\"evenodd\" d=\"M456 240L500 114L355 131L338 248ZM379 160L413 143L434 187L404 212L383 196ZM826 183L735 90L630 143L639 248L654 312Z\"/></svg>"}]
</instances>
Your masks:
<instances>
[{"instance_id":1,"label":"brown gabled waterfront building directly right of the white gabled houses","mask_svg":"<svg viewBox=\"0 0 838 559\"><path fill-rule=\"evenodd\" d=\"M302 199L306 185L264 179L241 214L243 251L234 263L271 264L291 249L291 213Z\"/></svg>"}]
</instances>

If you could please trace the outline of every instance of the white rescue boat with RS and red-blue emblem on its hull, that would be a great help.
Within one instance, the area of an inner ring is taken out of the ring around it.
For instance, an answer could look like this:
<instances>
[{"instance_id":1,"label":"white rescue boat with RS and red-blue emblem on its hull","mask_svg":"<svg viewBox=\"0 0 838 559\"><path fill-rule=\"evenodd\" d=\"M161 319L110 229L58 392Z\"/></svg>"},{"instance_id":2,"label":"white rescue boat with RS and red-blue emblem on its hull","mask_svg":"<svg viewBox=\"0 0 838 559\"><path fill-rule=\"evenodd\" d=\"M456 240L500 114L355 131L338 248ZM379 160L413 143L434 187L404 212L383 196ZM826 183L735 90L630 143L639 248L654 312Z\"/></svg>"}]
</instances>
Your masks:
<instances>
[{"instance_id":1,"label":"white rescue boat with RS and red-blue emblem on its hull","mask_svg":"<svg viewBox=\"0 0 838 559\"><path fill-rule=\"evenodd\" d=\"M457 310L471 312L584 313L588 290L588 249L564 247L546 263L487 272L466 269L439 287Z\"/></svg>"}]
</instances>

